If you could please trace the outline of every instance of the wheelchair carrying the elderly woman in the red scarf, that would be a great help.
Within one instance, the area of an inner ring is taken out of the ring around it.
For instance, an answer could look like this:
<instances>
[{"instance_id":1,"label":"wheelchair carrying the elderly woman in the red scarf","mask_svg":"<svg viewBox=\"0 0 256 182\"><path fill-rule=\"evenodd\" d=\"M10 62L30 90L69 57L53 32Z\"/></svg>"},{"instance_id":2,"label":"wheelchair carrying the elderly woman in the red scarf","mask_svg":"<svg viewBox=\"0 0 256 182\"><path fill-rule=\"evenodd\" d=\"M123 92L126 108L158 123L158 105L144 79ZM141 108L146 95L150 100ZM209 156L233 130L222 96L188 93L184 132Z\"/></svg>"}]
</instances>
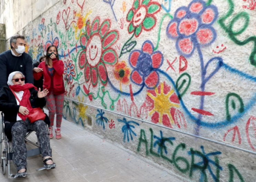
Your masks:
<instances>
[{"instance_id":1,"label":"wheelchair carrying the elderly woman in the red scarf","mask_svg":"<svg viewBox=\"0 0 256 182\"><path fill-rule=\"evenodd\" d=\"M0 124L0 152L2 151L2 157L1 157L1 168L2 168L2 173L6 174L6 170L8 168L8 178L13 179L15 174L10 173L10 161L12 160L12 155L13 151L10 148L10 143L7 138L7 136L4 134L4 117L3 117L3 112L1 112L1 124ZM47 124L46 124L47 125ZM47 127L48 128L48 127ZM39 147L39 141L37 140L36 143L32 142L31 140L28 139L28 136L32 133L32 130L28 130L27 134L25 136L25 142L28 142L37 148L27 150L27 157L32 157L41 154L40 147ZM49 129L48 129L48 135L49 134ZM36 169L37 171L44 170L44 168L39 168Z\"/></svg>"}]
</instances>

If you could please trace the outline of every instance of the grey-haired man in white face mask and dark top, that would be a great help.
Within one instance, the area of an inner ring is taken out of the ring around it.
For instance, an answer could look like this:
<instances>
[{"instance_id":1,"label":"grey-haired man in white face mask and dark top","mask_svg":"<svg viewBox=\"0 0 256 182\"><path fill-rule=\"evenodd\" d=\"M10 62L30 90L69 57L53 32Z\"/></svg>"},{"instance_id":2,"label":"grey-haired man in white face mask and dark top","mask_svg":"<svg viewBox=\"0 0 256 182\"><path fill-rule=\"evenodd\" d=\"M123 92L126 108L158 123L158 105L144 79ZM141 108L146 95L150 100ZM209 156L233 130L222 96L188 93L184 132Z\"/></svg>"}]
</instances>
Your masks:
<instances>
[{"instance_id":1,"label":"grey-haired man in white face mask and dark top","mask_svg":"<svg viewBox=\"0 0 256 182\"><path fill-rule=\"evenodd\" d=\"M15 35L10 39L11 50L0 54L0 88L7 86L8 76L13 71L25 75L25 83L34 83L32 58L25 51L25 37Z\"/></svg>"}]
</instances>

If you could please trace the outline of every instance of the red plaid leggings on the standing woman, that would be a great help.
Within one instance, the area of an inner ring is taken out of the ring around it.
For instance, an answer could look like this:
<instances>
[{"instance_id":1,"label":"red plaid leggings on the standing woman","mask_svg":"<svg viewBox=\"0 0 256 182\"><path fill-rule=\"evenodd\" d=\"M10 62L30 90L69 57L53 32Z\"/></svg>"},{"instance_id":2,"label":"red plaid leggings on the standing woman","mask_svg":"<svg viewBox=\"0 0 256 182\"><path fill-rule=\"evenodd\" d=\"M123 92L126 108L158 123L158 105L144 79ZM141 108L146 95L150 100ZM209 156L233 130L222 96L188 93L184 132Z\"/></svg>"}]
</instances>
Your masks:
<instances>
[{"instance_id":1,"label":"red plaid leggings on the standing woman","mask_svg":"<svg viewBox=\"0 0 256 182\"><path fill-rule=\"evenodd\" d=\"M54 93L51 92L45 98L47 108L49 110L49 119L51 121L51 126L54 125L54 115L56 113L56 127L60 128L62 121L64 93L60 95L54 95Z\"/></svg>"}]
</instances>

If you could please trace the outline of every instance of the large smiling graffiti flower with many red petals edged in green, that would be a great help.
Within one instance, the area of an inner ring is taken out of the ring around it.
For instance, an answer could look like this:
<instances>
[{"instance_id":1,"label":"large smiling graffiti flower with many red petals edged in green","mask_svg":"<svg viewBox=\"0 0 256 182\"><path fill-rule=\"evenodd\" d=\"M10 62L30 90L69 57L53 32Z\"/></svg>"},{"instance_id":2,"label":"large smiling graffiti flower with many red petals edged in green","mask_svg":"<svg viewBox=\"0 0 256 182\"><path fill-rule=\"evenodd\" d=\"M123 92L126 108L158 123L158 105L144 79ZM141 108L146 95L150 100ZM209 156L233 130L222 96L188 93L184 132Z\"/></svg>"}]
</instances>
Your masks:
<instances>
[{"instance_id":1,"label":"large smiling graffiti flower with many red petals edged in green","mask_svg":"<svg viewBox=\"0 0 256 182\"><path fill-rule=\"evenodd\" d=\"M79 56L79 66L84 69L85 81L91 81L95 87L98 78L105 86L107 83L107 70L105 64L113 65L117 62L117 54L111 46L117 41L117 31L109 31L109 19L100 24L100 17L96 17L92 24L88 20L85 33L80 36L80 44L84 49Z\"/></svg>"}]
</instances>

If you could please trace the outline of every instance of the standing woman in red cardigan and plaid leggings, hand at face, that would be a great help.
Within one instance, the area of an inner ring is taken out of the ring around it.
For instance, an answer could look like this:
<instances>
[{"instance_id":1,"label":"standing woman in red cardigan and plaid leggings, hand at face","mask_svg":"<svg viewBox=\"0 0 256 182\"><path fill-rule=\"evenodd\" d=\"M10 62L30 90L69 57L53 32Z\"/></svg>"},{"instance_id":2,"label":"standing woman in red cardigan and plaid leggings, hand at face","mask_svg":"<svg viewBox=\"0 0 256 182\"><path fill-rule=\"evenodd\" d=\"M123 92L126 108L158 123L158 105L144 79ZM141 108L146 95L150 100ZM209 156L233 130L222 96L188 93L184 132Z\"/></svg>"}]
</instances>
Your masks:
<instances>
[{"instance_id":1,"label":"standing woman in red cardigan and plaid leggings, hand at face","mask_svg":"<svg viewBox=\"0 0 256 182\"><path fill-rule=\"evenodd\" d=\"M51 127L49 127L50 138L53 138L52 130L54 124L54 115L56 113L57 123L55 133L56 139L60 139L63 100L65 93L63 82L64 64L62 60L59 60L59 54L56 46L51 45L47 48L46 59L39 64L38 68L40 69L33 72L34 79L39 80L43 75L43 89L49 90L49 93L45 98L51 121Z\"/></svg>"}]
</instances>

